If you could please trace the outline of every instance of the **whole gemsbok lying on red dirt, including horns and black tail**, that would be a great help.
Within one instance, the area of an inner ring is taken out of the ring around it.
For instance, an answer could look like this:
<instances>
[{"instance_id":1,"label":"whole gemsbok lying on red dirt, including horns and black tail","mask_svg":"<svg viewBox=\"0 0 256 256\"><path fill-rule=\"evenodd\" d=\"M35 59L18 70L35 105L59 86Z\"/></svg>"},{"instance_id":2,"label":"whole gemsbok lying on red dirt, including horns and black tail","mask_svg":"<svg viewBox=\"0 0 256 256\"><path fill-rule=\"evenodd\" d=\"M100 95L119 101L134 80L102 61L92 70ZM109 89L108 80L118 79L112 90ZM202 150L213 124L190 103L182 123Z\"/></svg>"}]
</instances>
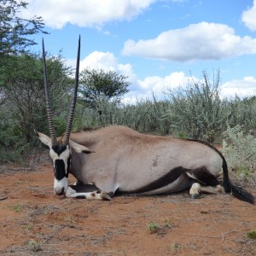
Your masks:
<instances>
[{"instance_id":1,"label":"whole gemsbok lying on red dirt, including horns and black tail","mask_svg":"<svg viewBox=\"0 0 256 256\"><path fill-rule=\"evenodd\" d=\"M71 133L79 86L80 38L75 89L67 129L56 137L44 55L44 87L50 137L39 133L53 161L56 195L109 200L115 193L139 195L172 194L189 189L192 198L200 192L226 192L253 203L253 195L230 183L224 156L200 141L141 134L125 126ZM88 147L88 148L87 148ZM90 148L90 149L89 149ZM68 174L78 182L68 185ZM217 177L223 174L223 184Z\"/></svg>"}]
</instances>

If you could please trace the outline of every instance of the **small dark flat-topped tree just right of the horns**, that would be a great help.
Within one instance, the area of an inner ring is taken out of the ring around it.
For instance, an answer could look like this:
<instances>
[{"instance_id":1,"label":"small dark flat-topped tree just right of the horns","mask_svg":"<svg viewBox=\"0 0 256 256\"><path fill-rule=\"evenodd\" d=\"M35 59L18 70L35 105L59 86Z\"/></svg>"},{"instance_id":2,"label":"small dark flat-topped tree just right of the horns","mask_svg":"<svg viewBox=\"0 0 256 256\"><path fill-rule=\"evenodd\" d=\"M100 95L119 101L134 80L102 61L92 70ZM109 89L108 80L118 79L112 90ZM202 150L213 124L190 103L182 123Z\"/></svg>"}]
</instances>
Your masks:
<instances>
[{"instance_id":1,"label":"small dark flat-topped tree just right of the horns","mask_svg":"<svg viewBox=\"0 0 256 256\"><path fill-rule=\"evenodd\" d=\"M129 90L126 76L102 69L84 69L80 73L79 93L86 106L97 108L99 102L119 102Z\"/></svg>"}]
</instances>

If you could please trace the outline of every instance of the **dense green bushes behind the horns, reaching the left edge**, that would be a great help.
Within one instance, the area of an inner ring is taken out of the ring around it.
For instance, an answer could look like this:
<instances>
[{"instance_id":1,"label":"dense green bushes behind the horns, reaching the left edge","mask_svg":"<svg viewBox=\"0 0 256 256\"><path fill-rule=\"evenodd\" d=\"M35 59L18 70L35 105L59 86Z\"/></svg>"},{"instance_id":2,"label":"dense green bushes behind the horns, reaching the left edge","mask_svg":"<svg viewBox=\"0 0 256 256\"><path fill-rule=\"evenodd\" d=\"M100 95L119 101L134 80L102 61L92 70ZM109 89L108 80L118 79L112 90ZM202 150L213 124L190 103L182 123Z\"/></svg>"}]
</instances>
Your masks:
<instances>
[{"instance_id":1,"label":"dense green bushes behind the horns, reaching the left edge","mask_svg":"<svg viewBox=\"0 0 256 256\"><path fill-rule=\"evenodd\" d=\"M38 144L34 131L49 132L41 57L35 54L11 55L4 61L2 85L0 83L4 96L0 108L0 162L17 161L27 148ZM67 125L72 73L61 55L48 56L47 70L56 132L61 134Z\"/></svg>"}]
</instances>

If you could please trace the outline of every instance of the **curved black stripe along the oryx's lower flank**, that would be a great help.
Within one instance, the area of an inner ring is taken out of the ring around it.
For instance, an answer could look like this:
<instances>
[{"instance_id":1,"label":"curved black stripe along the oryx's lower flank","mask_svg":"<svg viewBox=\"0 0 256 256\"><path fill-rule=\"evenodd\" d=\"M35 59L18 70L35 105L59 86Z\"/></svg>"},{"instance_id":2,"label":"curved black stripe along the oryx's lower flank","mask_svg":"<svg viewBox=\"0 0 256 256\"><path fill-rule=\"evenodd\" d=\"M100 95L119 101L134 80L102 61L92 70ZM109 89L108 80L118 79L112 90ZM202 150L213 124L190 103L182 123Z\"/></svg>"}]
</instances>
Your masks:
<instances>
[{"instance_id":1,"label":"curved black stripe along the oryx's lower flank","mask_svg":"<svg viewBox=\"0 0 256 256\"><path fill-rule=\"evenodd\" d=\"M170 172L167 172L164 176L160 177L159 179L155 180L152 183L144 186L140 189L135 189L133 191L129 191L129 193L145 193L148 191L153 191L156 189L160 189L166 187L167 185L173 183L180 177L184 172L188 172L189 169L183 168L182 166L178 166L172 169Z\"/></svg>"}]
</instances>

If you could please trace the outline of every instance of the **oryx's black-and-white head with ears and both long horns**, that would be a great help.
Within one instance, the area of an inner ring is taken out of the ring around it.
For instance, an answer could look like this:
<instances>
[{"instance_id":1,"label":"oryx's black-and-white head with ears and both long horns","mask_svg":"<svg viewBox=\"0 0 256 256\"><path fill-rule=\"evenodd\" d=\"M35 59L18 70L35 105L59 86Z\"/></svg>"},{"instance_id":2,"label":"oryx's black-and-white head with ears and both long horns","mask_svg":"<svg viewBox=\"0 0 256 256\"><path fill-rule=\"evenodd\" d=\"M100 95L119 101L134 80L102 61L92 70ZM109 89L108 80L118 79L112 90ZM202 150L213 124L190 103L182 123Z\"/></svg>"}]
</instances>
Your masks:
<instances>
[{"instance_id":1,"label":"oryx's black-and-white head with ears and both long horns","mask_svg":"<svg viewBox=\"0 0 256 256\"><path fill-rule=\"evenodd\" d=\"M74 143L69 139L72 122L73 122L73 113L76 105L77 91L79 86L79 61L80 61L80 37L79 37L79 49L77 56L77 67L75 74L75 88L73 94L73 101L70 107L69 116L67 119L67 128L64 133L64 136L61 139L56 137L55 127L53 124L52 111L49 101L49 88L47 81L47 72L46 72L46 62L44 54L44 39L43 39L43 67L44 67L44 90L45 90L45 102L46 110L49 124L49 134L50 137L44 135L43 133L38 132L38 137L42 143L49 147L49 156L53 161L54 171L55 171L55 183L54 189L55 194L63 195L65 194L68 187L68 172L71 166L71 148L78 153L91 153L89 148L86 148L78 143Z\"/></svg>"}]
</instances>

